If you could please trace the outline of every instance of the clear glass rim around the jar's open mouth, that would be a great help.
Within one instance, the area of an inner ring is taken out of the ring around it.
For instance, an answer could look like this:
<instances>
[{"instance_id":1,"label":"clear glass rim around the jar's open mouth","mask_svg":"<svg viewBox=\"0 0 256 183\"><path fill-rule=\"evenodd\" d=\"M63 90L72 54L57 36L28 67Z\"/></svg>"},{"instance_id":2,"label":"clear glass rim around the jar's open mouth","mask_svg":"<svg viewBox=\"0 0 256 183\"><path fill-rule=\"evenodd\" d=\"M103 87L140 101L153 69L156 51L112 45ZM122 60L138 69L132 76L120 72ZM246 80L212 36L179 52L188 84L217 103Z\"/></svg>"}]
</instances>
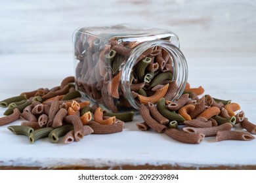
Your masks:
<instances>
[{"instance_id":1,"label":"clear glass rim around the jar's open mouth","mask_svg":"<svg viewBox=\"0 0 256 183\"><path fill-rule=\"evenodd\" d=\"M129 101L131 107L139 110L140 103L133 98L133 93L131 92L131 83L130 77L133 71L133 67L137 64L137 59L142 55L145 50L149 48L161 48L165 50L169 56L173 59L173 78L172 80L176 81L177 90L173 93L173 99L171 101L175 101L181 97L184 92L184 88L186 86L186 81L188 80L188 65L186 63L186 59L182 54L181 50L177 48L171 42L158 40L158 41L148 41L139 44L137 47L133 49L131 55L127 59L125 65L123 65L123 74L121 76L121 89L123 93L125 93L125 98Z\"/></svg>"}]
</instances>

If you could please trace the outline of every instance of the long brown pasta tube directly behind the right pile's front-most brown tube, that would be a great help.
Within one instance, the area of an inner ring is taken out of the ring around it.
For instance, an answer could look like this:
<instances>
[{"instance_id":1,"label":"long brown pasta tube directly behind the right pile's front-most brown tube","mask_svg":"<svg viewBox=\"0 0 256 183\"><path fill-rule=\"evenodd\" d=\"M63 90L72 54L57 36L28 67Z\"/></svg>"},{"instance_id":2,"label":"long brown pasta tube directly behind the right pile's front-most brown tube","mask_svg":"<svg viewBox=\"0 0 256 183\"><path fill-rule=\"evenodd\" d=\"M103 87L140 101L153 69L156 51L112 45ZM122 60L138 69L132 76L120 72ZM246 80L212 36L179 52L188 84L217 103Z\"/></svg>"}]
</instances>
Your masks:
<instances>
[{"instance_id":1,"label":"long brown pasta tube directly behind the right pile's front-most brown tube","mask_svg":"<svg viewBox=\"0 0 256 183\"><path fill-rule=\"evenodd\" d=\"M218 131L230 130L232 124L224 123L213 127L183 127L183 131L187 133L203 133L205 137L215 136Z\"/></svg>"}]
</instances>

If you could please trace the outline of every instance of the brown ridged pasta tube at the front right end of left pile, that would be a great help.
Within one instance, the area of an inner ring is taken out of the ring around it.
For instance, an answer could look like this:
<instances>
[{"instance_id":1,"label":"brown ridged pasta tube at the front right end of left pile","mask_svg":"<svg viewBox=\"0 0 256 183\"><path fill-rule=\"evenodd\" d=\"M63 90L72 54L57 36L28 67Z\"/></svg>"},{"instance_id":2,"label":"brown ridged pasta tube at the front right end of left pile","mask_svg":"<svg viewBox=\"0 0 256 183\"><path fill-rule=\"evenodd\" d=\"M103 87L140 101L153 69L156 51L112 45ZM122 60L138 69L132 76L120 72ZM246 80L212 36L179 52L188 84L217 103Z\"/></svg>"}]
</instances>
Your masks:
<instances>
[{"instance_id":1,"label":"brown ridged pasta tube at the front right end of left pile","mask_svg":"<svg viewBox=\"0 0 256 183\"><path fill-rule=\"evenodd\" d=\"M124 122L117 122L116 124L100 125L95 121L89 122L89 126L93 129L94 134L110 134L123 131Z\"/></svg>"}]
</instances>

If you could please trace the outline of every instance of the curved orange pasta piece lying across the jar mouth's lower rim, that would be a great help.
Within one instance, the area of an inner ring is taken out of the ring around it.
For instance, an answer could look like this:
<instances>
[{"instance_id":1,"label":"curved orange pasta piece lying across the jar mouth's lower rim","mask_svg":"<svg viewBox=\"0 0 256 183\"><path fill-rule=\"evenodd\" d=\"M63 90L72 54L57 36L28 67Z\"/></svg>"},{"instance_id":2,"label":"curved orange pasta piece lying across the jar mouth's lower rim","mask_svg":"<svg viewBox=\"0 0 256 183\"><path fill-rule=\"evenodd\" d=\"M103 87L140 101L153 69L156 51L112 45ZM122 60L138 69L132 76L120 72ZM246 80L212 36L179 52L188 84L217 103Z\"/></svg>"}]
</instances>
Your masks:
<instances>
[{"instance_id":1,"label":"curved orange pasta piece lying across the jar mouth's lower rim","mask_svg":"<svg viewBox=\"0 0 256 183\"><path fill-rule=\"evenodd\" d=\"M166 84L163 88L161 88L160 90L156 91L156 93L154 93L154 95L152 95L150 97L144 97L143 95L138 95L140 103L142 103L144 105L147 105L148 102L156 103L162 97L165 96L165 94L166 94L166 92L168 90L168 87L169 87L169 84Z\"/></svg>"}]
</instances>

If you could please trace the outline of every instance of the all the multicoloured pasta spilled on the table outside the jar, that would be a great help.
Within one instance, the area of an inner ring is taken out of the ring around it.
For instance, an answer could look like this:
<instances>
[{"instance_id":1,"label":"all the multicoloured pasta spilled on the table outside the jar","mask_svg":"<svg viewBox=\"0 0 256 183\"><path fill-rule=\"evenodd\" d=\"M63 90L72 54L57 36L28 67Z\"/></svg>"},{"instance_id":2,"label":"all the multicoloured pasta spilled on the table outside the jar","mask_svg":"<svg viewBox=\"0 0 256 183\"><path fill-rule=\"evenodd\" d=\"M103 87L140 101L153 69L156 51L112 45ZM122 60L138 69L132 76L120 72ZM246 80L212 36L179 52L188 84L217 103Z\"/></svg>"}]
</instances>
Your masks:
<instances>
[{"instance_id":1,"label":"all the multicoloured pasta spilled on the table outside the jar","mask_svg":"<svg viewBox=\"0 0 256 183\"><path fill-rule=\"evenodd\" d=\"M74 77L64 78L60 86L51 90L39 88L24 92L0 102L8 107L0 125L11 124L18 119L26 120L21 125L10 125L8 129L16 135L26 135L30 143L48 137L49 141L71 143L80 141L85 135L108 134L123 131L125 122L133 121L134 112L106 112L89 101L81 101L75 90ZM170 82L176 88L175 82ZM165 85L158 86L162 91ZM137 124L139 130L153 129L165 133L176 141L198 144L204 137L216 136L216 141L255 139L256 125L245 118L240 105L202 95L203 88L186 88L181 97L169 101L162 97L151 101L150 97L137 94L141 103L140 114L144 122ZM156 102L156 105L154 104ZM233 130L241 125L245 130ZM64 137L63 137L64 136ZM60 141L60 137L62 141Z\"/></svg>"}]
</instances>

